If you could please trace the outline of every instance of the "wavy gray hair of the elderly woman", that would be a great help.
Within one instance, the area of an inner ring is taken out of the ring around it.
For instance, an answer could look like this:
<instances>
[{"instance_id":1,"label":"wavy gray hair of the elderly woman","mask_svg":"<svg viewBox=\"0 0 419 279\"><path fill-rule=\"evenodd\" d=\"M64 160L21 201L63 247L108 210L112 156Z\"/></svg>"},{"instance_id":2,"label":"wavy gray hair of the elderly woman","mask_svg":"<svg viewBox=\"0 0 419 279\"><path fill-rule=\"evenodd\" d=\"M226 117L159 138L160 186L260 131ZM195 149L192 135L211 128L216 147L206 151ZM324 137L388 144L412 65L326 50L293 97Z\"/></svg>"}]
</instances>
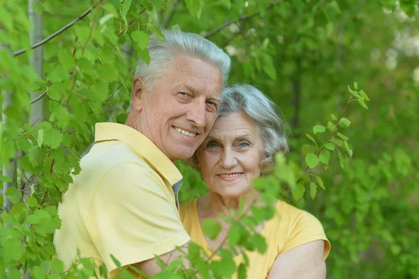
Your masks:
<instances>
[{"instance_id":1,"label":"wavy gray hair of the elderly woman","mask_svg":"<svg viewBox=\"0 0 419 279\"><path fill-rule=\"evenodd\" d=\"M256 124L263 141L265 159L260 162L260 173L269 173L275 166L275 154L286 154L289 150L286 142L286 123L281 120L277 111L277 105L265 94L251 85L234 85L226 87L221 94L222 99L216 117L238 113L240 111ZM197 166L196 153L188 162L191 166Z\"/></svg>"}]
</instances>

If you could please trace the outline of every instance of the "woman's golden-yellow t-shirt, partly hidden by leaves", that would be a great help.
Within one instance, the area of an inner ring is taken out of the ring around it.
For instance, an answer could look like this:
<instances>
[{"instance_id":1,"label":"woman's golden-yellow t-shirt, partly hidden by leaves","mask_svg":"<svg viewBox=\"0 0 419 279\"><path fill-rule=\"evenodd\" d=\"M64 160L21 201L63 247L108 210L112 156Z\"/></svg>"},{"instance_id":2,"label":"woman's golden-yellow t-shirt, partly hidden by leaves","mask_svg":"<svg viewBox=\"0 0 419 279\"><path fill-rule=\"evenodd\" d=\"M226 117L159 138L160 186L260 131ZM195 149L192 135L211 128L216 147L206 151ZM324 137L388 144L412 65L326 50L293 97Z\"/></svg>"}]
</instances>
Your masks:
<instances>
[{"instance_id":1,"label":"woman's golden-yellow t-shirt, partly hidden by leaves","mask_svg":"<svg viewBox=\"0 0 419 279\"><path fill-rule=\"evenodd\" d=\"M198 243L208 255L211 255L212 249L205 241L200 227L197 201L198 199L193 199L180 205L180 220L192 241ZM260 232L267 243L265 254L261 255L257 251L245 252L249 258L247 278L266 278L278 255L311 241L325 241L325 259L329 255L330 242L316 217L284 201L278 201L275 210L274 217L266 222ZM234 257L234 261L236 266L244 262L242 255Z\"/></svg>"}]
</instances>

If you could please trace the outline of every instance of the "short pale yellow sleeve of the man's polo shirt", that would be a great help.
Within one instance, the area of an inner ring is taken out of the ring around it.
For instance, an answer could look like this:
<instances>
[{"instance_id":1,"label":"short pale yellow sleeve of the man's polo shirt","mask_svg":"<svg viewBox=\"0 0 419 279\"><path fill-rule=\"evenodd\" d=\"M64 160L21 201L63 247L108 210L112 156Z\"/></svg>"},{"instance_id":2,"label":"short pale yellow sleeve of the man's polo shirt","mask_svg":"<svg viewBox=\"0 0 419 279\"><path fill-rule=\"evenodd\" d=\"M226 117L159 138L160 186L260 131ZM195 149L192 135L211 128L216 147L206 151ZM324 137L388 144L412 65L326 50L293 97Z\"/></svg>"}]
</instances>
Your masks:
<instances>
[{"instance_id":1,"label":"short pale yellow sleeve of the man's polo shirt","mask_svg":"<svg viewBox=\"0 0 419 279\"><path fill-rule=\"evenodd\" d=\"M173 193L152 169L138 163L113 166L91 200L86 225L108 271L163 255L190 241Z\"/></svg>"}]
</instances>

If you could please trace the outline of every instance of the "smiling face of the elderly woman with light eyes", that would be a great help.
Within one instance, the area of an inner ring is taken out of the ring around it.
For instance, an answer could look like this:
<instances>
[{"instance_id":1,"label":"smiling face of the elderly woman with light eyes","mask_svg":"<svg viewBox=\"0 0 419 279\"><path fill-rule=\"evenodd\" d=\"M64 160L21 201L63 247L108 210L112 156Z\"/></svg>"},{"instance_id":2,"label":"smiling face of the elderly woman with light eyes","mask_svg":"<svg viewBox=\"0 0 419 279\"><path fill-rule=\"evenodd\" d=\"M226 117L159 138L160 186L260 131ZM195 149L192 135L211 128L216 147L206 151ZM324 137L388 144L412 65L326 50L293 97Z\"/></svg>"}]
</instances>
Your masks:
<instances>
[{"instance_id":1,"label":"smiling face of the elderly woman with light eyes","mask_svg":"<svg viewBox=\"0 0 419 279\"><path fill-rule=\"evenodd\" d=\"M223 197L247 192L265 157L259 129L243 112L219 117L196 155L210 191Z\"/></svg>"}]
</instances>

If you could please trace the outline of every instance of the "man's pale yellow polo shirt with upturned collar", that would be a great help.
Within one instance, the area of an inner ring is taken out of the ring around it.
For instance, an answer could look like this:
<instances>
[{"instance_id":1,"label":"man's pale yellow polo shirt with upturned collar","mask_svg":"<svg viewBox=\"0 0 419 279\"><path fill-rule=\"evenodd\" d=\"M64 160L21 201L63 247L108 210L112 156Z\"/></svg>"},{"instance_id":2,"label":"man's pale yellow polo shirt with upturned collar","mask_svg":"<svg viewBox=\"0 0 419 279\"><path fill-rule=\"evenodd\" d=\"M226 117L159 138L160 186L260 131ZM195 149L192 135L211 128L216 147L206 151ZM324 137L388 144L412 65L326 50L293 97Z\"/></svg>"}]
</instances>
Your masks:
<instances>
[{"instance_id":1,"label":"man's pale yellow polo shirt with upturned collar","mask_svg":"<svg viewBox=\"0 0 419 279\"><path fill-rule=\"evenodd\" d=\"M182 175L170 159L124 124L96 124L95 141L59 204L62 224L54 245L66 269L79 249L82 257L105 262L112 278L119 271L110 255L127 266L190 238L177 210L179 188L172 189Z\"/></svg>"}]
</instances>

